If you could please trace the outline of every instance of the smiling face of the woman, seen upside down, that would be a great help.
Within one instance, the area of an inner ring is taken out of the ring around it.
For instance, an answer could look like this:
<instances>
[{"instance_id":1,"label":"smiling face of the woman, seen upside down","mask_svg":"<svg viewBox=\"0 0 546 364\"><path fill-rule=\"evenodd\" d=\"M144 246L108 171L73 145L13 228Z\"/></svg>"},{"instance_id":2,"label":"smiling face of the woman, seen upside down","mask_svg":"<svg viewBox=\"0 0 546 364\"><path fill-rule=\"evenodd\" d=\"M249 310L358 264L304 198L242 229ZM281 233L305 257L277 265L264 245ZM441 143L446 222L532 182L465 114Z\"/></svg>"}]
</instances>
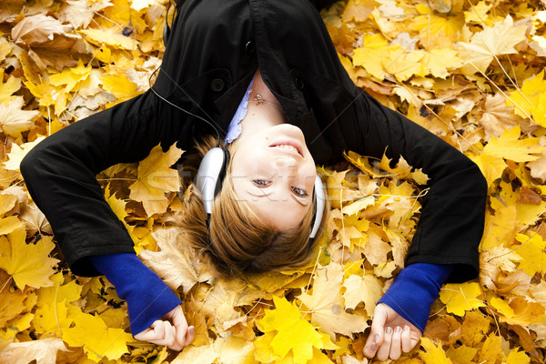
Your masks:
<instances>
[{"instance_id":1,"label":"smiling face of the woman, seen upside down","mask_svg":"<svg viewBox=\"0 0 546 364\"><path fill-rule=\"evenodd\" d=\"M289 124L243 129L236 143L231 178L238 197L273 227L298 227L317 177L302 131Z\"/></svg>"}]
</instances>

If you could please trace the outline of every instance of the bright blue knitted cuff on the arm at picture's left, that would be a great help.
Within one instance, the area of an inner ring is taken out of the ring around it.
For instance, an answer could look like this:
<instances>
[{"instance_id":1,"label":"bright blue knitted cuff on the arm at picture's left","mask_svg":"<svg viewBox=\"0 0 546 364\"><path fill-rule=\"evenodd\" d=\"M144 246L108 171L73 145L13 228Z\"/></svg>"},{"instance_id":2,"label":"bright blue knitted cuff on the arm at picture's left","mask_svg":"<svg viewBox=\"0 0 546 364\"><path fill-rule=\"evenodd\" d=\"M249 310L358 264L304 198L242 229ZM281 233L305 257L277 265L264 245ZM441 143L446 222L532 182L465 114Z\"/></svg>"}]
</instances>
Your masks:
<instances>
[{"instance_id":1,"label":"bright blue knitted cuff on the arm at picture's left","mask_svg":"<svg viewBox=\"0 0 546 364\"><path fill-rule=\"evenodd\" d=\"M182 303L172 289L135 254L89 258L96 270L114 285L117 296L126 300L133 335L144 331L155 320Z\"/></svg>"}]
</instances>

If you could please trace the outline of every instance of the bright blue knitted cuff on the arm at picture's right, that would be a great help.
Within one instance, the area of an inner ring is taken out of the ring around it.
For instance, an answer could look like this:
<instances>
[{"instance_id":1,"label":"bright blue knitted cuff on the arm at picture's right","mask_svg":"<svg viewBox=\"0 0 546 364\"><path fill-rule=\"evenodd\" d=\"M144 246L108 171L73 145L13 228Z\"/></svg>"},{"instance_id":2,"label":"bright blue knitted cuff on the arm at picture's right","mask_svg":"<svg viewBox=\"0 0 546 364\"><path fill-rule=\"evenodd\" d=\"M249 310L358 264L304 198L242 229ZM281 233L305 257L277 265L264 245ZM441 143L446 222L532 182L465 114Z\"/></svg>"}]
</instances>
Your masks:
<instances>
[{"instance_id":1,"label":"bright blue knitted cuff on the arm at picture's right","mask_svg":"<svg viewBox=\"0 0 546 364\"><path fill-rule=\"evenodd\" d=\"M378 303L388 305L424 332L429 320L430 305L438 298L440 288L452 270L451 265L412 264L399 272Z\"/></svg>"}]
</instances>

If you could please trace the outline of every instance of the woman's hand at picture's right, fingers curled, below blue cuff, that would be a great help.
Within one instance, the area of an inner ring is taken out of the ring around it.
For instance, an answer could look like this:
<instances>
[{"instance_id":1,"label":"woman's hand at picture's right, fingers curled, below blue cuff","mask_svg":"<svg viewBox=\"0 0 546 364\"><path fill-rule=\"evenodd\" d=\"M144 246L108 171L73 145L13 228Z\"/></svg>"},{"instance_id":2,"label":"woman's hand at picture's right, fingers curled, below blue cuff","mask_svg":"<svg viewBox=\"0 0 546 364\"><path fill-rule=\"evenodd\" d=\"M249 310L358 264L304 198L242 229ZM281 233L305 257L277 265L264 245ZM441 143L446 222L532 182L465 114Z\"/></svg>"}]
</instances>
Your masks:
<instances>
[{"instance_id":1,"label":"woman's hand at picture's right, fingers curled, below blue cuff","mask_svg":"<svg viewBox=\"0 0 546 364\"><path fill-rule=\"evenodd\" d=\"M394 309L379 303L374 311L371 331L364 346L364 355L379 360L399 359L402 351L409 352L420 340L421 332Z\"/></svg>"}]
</instances>

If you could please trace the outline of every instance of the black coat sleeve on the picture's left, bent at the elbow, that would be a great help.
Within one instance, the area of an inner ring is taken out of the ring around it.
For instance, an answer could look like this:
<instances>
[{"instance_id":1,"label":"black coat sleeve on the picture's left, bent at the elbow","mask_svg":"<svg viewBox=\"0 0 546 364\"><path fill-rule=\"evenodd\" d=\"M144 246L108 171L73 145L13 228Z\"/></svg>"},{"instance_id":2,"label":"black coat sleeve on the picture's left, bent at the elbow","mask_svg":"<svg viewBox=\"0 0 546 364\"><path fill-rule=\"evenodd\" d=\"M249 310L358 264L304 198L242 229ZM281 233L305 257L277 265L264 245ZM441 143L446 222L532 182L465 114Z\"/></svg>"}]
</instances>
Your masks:
<instances>
[{"instance_id":1,"label":"black coat sleeve on the picture's left, bent at the elbow","mask_svg":"<svg viewBox=\"0 0 546 364\"><path fill-rule=\"evenodd\" d=\"M96 174L141 160L159 143L165 149L183 140L185 123L173 113L147 92L46 137L22 161L28 191L75 274L99 274L88 256L134 252Z\"/></svg>"}]
</instances>

